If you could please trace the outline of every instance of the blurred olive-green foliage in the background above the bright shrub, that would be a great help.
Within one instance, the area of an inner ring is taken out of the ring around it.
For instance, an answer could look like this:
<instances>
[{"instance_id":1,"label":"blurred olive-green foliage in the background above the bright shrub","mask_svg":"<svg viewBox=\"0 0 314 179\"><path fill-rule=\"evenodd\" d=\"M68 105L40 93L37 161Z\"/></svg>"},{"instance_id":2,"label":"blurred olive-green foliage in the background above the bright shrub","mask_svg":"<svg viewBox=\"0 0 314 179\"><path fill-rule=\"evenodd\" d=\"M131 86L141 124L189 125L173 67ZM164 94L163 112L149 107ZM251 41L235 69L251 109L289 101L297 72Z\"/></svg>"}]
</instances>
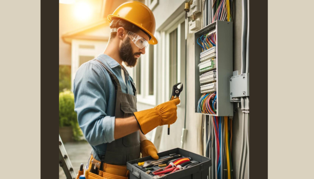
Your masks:
<instances>
[{"instance_id":1,"label":"blurred olive-green foliage in the background above the bright shrub","mask_svg":"<svg viewBox=\"0 0 314 179\"><path fill-rule=\"evenodd\" d=\"M71 66L59 65L59 93L71 89Z\"/></svg>"}]
</instances>

